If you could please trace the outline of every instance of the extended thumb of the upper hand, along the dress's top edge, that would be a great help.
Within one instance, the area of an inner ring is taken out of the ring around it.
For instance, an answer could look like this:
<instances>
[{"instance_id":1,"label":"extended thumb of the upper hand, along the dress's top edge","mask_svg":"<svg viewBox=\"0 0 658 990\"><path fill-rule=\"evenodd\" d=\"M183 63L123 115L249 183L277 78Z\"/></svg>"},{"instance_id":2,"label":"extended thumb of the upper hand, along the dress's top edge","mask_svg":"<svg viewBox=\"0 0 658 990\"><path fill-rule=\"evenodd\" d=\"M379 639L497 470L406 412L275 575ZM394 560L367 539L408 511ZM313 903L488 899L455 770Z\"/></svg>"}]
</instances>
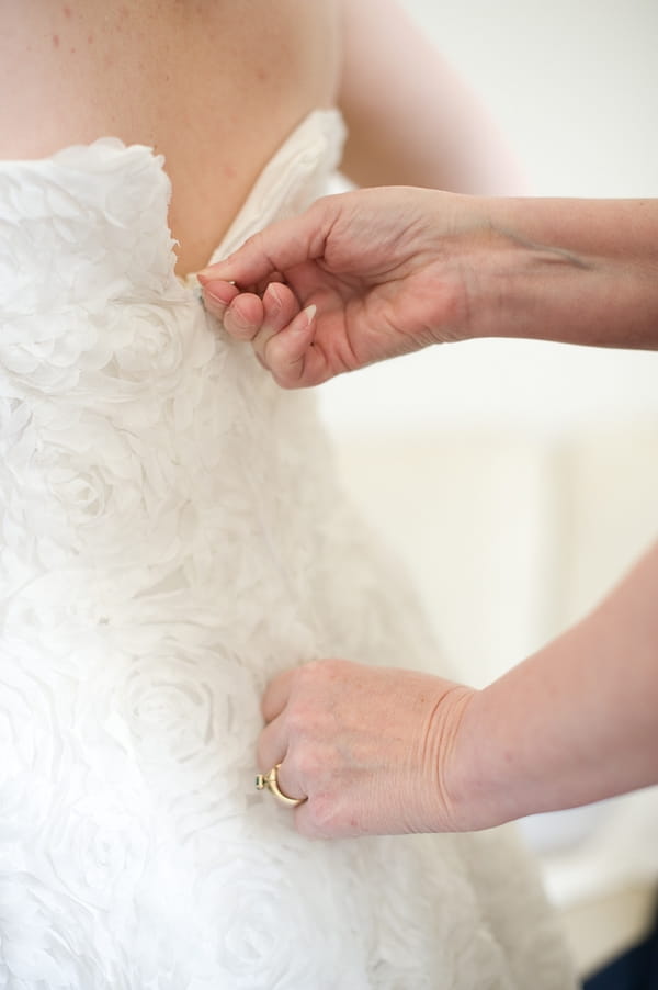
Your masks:
<instances>
[{"instance_id":1,"label":"extended thumb of the upper hand, along the dress's top edge","mask_svg":"<svg viewBox=\"0 0 658 990\"><path fill-rule=\"evenodd\" d=\"M228 258L197 273L202 285L213 281L235 282L240 288L256 285L274 272L285 272L305 261L321 258L331 229L332 196L318 200L300 216L282 220L253 234Z\"/></svg>"}]
</instances>

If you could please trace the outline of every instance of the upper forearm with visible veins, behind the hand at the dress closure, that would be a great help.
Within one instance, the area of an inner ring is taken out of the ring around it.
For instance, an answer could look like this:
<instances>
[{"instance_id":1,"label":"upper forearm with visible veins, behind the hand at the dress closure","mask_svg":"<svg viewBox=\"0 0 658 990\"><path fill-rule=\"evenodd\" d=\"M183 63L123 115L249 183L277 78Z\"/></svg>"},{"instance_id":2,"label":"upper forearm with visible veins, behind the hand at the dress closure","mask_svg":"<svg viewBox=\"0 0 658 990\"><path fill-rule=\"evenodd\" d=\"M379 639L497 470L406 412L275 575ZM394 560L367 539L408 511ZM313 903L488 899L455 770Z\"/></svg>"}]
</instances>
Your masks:
<instances>
[{"instance_id":1,"label":"upper forearm with visible veins, behind the hand at the dress closure","mask_svg":"<svg viewBox=\"0 0 658 990\"><path fill-rule=\"evenodd\" d=\"M483 221L464 267L473 336L658 347L658 200L472 205Z\"/></svg>"}]
</instances>

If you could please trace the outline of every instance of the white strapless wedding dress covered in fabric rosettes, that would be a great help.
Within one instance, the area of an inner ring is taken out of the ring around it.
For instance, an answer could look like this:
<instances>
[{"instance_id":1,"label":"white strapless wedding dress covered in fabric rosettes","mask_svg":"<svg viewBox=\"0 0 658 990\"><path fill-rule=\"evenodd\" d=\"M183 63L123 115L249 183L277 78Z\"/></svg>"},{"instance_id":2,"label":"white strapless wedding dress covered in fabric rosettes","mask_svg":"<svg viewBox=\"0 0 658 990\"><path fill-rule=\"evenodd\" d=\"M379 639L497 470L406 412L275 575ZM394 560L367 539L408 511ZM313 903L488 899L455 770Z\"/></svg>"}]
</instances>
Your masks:
<instances>
[{"instance_id":1,"label":"white strapless wedding dress covered in fabric rosettes","mask_svg":"<svg viewBox=\"0 0 658 990\"><path fill-rule=\"evenodd\" d=\"M216 256L326 188L315 112ZM0 164L0 987L567 990L506 831L309 842L253 788L268 679L435 656L277 389L174 274L162 158Z\"/></svg>"}]
</instances>

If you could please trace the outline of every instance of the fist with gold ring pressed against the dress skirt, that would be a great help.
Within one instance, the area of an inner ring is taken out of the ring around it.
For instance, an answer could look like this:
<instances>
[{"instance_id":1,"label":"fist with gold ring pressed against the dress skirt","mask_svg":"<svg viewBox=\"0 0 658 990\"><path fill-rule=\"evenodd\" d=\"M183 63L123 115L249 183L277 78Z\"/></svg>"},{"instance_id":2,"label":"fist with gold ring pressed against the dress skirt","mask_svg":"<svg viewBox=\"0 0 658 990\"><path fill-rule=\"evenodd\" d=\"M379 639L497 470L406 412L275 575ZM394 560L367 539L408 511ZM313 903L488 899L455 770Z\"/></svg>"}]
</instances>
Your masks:
<instances>
[{"instance_id":1,"label":"fist with gold ring pressed against the dress skirt","mask_svg":"<svg viewBox=\"0 0 658 990\"><path fill-rule=\"evenodd\" d=\"M318 661L276 677L263 698L262 773L309 837L462 831L453 801L460 727L477 691L427 674Z\"/></svg>"}]
</instances>

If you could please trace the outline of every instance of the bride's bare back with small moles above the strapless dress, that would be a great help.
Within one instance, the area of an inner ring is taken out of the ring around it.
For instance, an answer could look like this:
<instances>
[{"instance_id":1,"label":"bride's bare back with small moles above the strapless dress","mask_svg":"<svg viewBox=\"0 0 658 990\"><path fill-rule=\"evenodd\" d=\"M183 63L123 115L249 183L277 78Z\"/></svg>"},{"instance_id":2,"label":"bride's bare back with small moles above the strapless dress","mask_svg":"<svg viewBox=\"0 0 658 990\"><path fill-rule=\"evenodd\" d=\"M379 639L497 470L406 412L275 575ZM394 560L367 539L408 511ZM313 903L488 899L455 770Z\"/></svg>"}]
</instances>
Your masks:
<instances>
[{"instance_id":1,"label":"bride's bare back with small moles above the strapless dress","mask_svg":"<svg viewBox=\"0 0 658 990\"><path fill-rule=\"evenodd\" d=\"M181 273L336 100L338 0L0 0L0 158L113 135L164 154Z\"/></svg>"}]
</instances>

